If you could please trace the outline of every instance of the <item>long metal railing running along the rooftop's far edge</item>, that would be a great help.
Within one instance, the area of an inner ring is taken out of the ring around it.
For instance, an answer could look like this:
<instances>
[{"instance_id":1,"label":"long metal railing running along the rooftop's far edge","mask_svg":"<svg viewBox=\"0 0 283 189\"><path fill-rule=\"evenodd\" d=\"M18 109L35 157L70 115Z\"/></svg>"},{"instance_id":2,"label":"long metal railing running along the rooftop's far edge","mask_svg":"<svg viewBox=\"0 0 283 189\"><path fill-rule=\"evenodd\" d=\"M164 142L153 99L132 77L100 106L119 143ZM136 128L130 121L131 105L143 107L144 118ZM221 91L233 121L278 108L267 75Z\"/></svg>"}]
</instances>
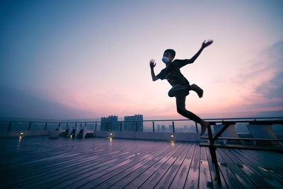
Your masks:
<instances>
[{"instance_id":1,"label":"long metal railing running along the rooftop's far edge","mask_svg":"<svg viewBox=\"0 0 283 189\"><path fill-rule=\"evenodd\" d=\"M250 121L259 121L259 120L283 120L283 117L270 117L270 118L212 118L212 119L204 119L207 121L212 121L212 122L224 122L224 121L235 121L235 122L250 122ZM48 125L53 125L56 128L59 128L60 126L64 125L69 128L69 127L86 127L88 124L93 124L94 126L94 131L98 130L98 124L100 124L100 129L102 128L105 131L134 131L134 132L142 132L143 131L143 125L145 122L152 122L152 132L156 132L156 125L155 122L171 122L172 128L169 130L169 132L175 132L175 122L185 122L185 121L192 121L188 119L182 119L182 120L129 120L129 121L21 121L21 120L0 120L0 124L3 122L8 122L8 128L7 131L11 131L11 127L13 123L26 123L28 124L27 130L31 130L31 127L33 124L43 124L44 129L47 130ZM142 124L139 124L141 122ZM125 123L130 123L130 127L125 128ZM122 129L124 125L124 129ZM140 128L139 125L142 127ZM102 127L103 126L103 127ZM54 129L52 127L52 129ZM162 130L158 130L158 132L164 132ZM195 122L195 132L199 132L197 128L197 122Z\"/></svg>"}]
</instances>

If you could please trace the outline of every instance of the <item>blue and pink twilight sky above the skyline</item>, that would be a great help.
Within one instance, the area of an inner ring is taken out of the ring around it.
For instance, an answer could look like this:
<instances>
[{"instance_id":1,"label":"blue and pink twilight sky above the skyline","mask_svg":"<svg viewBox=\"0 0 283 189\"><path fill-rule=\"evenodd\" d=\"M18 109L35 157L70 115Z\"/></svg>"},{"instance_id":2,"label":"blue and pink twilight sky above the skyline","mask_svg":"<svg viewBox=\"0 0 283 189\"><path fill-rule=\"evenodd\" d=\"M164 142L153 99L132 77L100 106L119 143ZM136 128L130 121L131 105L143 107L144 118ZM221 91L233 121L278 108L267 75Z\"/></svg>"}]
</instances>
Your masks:
<instances>
[{"instance_id":1,"label":"blue and pink twilight sky above the skyline","mask_svg":"<svg viewBox=\"0 0 283 189\"><path fill-rule=\"evenodd\" d=\"M201 118L283 116L283 1L1 1L0 117L183 118L164 50L204 90Z\"/></svg>"}]
</instances>

